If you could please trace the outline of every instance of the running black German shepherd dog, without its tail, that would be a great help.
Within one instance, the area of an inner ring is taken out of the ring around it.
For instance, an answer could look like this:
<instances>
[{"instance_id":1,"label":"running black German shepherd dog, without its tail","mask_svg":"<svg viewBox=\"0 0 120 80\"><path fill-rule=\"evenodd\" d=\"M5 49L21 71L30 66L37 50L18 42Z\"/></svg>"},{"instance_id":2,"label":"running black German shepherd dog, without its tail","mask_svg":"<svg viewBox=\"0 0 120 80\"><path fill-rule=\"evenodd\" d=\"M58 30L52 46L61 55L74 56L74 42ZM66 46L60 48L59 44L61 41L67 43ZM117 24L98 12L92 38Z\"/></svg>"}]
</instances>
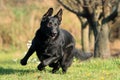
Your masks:
<instances>
[{"instance_id":1,"label":"running black German shepherd dog, without its tail","mask_svg":"<svg viewBox=\"0 0 120 80\"><path fill-rule=\"evenodd\" d=\"M46 66L50 66L53 68L52 73L59 68L62 68L62 72L65 73L72 64L76 52L75 41L69 32L60 29L62 9L54 16L52 13L53 8L49 8L43 15L32 45L20 63L26 65L28 58L36 51L41 62L38 65L40 71L44 70Z\"/></svg>"}]
</instances>

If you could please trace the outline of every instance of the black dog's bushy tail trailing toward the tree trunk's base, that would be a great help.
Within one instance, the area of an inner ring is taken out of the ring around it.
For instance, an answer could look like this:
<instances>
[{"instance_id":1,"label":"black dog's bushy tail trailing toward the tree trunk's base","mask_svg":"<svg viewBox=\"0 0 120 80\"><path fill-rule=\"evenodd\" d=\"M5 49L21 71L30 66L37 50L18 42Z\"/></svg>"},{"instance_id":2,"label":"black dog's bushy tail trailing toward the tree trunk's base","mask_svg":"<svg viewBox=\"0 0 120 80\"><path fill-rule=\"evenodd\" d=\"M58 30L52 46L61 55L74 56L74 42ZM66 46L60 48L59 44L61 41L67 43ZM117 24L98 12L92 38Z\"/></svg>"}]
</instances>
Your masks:
<instances>
[{"instance_id":1,"label":"black dog's bushy tail trailing toward the tree trunk's base","mask_svg":"<svg viewBox=\"0 0 120 80\"><path fill-rule=\"evenodd\" d=\"M85 53L81 50L75 49L74 56L75 56L75 58L77 58L79 60L87 60L87 59L91 58L93 56L93 54L92 53Z\"/></svg>"}]
</instances>

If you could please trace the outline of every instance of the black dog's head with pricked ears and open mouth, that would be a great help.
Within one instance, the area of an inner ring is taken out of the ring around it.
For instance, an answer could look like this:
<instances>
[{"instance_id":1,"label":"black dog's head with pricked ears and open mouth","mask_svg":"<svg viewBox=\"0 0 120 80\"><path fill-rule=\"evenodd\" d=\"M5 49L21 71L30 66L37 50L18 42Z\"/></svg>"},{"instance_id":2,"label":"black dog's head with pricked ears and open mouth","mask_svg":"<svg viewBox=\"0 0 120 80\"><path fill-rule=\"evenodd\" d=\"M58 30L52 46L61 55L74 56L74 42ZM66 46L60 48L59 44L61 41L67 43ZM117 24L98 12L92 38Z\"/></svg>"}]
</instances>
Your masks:
<instances>
[{"instance_id":1,"label":"black dog's head with pricked ears and open mouth","mask_svg":"<svg viewBox=\"0 0 120 80\"><path fill-rule=\"evenodd\" d=\"M59 34L59 25L62 21L62 12L62 9L60 9L56 15L52 16L53 8L49 8L43 15L40 29L44 35L52 39L56 38Z\"/></svg>"}]
</instances>

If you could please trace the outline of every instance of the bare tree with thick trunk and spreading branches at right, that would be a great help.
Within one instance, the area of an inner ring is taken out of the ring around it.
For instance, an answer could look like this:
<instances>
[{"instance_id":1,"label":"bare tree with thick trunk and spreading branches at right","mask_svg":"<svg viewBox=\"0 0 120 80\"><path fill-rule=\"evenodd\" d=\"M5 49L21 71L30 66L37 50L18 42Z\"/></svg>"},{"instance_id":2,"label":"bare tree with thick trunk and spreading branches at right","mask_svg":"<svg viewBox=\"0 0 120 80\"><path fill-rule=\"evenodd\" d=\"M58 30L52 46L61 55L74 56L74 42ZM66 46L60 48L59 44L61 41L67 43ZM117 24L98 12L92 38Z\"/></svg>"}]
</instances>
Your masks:
<instances>
[{"instance_id":1,"label":"bare tree with thick trunk and spreading branches at right","mask_svg":"<svg viewBox=\"0 0 120 80\"><path fill-rule=\"evenodd\" d=\"M118 15L119 0L58 0L81 20L87 19L95 37L94 57L110 57L109 22ZM82 23L82 27L84 22ZM83 28L82 28L83 29ZM85 35L84 35L85 36ZM83 41L84 42L84 41ZM86 43L83 43L86 45Z\"/></svg>"}]
</instances>

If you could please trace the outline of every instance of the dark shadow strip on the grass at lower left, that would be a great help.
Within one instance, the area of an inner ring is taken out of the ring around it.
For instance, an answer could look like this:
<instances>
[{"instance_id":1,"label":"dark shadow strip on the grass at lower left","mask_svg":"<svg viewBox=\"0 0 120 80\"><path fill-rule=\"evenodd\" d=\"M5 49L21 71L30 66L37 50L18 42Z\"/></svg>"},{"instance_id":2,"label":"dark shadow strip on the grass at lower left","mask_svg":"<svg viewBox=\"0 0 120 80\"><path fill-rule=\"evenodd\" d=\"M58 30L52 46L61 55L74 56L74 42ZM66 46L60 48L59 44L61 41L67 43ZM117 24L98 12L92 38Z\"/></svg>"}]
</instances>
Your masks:
<instances>
[{"instance_id":1,"label":"dark shadow strip on the grass at lower left","mask_svg":"<svg viewBox=\"0 0 120 80\"><path fill-rule=\"evenodd\" d=\"M29 73L29 72L34 72L34 70L22 70L22 69L0 67L0 75L9 75L9 74L16 74L16 73L26 74L26 73Z\"/></svg>"}]
</instances>

